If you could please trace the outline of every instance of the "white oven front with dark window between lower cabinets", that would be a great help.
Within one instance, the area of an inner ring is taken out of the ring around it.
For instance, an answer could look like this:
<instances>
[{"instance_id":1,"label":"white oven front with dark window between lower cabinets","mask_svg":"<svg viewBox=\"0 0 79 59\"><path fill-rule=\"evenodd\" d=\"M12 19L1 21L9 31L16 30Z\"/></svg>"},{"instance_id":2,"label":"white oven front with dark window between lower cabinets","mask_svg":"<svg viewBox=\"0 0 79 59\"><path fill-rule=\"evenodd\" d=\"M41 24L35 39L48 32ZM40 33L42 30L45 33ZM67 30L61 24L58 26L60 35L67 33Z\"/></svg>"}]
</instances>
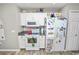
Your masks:
<instances>
[{"instance_id":1,"label":"white oven front with dark window between lower cabinets","mask_svg":"<svg viewBox=\"0 0 79 59\"><path fill-rule=\"evenodd\" d=\"M39 50L39 36L28 36L26 39L26 50Z\"/></svg>"}]
</instances>

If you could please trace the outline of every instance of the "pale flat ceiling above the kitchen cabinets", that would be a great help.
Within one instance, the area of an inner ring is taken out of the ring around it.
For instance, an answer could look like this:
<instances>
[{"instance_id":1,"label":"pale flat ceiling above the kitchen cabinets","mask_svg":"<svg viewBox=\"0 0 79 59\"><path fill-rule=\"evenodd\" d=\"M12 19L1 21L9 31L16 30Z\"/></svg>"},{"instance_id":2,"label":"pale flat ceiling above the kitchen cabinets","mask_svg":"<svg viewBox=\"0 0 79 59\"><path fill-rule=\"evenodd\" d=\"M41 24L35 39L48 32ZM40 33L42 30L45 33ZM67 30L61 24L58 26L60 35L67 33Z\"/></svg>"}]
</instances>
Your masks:
<instances>
[{"instance_id":1,"label":"pale flat ceiling above the kitchen cabinets","mask_svg":"<svg viewBox=\"0 0 79 59\"><path fill-rule=\"evenodd\" d=\"M27 8L63 8L66 3L17 3L16 4L21 9Z\"/></svg>"}]
</instances>

